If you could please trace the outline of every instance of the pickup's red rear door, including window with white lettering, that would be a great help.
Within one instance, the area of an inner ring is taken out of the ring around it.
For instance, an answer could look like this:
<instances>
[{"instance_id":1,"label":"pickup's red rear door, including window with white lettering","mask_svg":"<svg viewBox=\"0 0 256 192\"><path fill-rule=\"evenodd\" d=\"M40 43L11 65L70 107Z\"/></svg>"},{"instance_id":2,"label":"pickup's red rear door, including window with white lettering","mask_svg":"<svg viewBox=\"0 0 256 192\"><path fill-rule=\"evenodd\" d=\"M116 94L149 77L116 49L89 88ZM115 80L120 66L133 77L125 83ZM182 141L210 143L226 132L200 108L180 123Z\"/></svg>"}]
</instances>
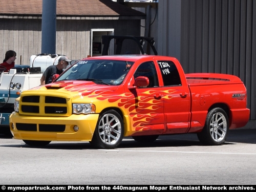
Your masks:
<instances>
[{"instance_id":1,"label":"pickup's red rear door, including window with white lettering","mask_svg":"<svg viewBox=\"0 0 256 192\"><path fill-rule=\"evenodd\" d=\"M181 83L173 61L158 60L163 79L164 134L185 133L189 127L190 95L188 86Z\"/></svg>"}]
</instances>

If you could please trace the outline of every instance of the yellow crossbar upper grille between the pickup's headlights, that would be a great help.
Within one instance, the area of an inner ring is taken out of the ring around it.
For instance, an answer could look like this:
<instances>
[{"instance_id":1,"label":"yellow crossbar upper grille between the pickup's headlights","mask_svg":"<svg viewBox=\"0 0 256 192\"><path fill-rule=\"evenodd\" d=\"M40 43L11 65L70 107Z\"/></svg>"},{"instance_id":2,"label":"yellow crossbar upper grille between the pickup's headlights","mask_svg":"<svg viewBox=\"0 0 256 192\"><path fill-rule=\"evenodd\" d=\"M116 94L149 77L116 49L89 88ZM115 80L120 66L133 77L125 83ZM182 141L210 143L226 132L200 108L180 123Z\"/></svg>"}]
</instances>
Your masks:
<instances>
[{"instance_id":1,"label":"yellow crossbar upper grille between the pickup's headlights","mask_svg":"<svg viewBox=\"0 0 256 192\"><path fill-rule=\"evenodd\" d=\"M55 96L23 96L20 100L20 114L40 116L68 116L67 99ZM71 111L71 110L70 110Z\"/></svg>"}]
</instances>

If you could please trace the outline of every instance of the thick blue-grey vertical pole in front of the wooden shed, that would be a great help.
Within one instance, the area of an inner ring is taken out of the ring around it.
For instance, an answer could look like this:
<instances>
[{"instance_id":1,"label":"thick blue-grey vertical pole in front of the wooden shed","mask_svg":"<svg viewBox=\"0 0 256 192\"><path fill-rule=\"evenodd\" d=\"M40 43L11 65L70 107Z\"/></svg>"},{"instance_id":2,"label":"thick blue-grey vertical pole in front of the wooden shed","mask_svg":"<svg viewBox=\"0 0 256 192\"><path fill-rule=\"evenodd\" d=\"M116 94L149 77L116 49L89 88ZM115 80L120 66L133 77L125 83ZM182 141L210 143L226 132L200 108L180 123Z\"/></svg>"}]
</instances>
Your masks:
<instances>
[{"instance_id":1,"label":"thick blue-grey vertical pole in front of the wooden shed","mask_svg":"<svg viewBox=\"0 0 256 192\"><path fill-rule=\"evenodd\" d=\"M56 0L42 0L41 53L56 54Z\"/></svg>"}]
</instances>

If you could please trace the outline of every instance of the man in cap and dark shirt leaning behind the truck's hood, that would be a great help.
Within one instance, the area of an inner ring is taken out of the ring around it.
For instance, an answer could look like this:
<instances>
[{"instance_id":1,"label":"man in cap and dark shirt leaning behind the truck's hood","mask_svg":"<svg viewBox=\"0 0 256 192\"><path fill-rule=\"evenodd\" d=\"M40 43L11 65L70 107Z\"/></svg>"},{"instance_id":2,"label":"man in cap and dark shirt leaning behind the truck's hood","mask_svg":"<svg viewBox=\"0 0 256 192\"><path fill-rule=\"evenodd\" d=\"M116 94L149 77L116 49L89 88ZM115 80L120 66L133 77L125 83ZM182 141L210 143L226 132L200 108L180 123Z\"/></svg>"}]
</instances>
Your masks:
<instances>
[{"instance_id":1,"label":"man in cap and dark shirt leaning behind the truck's hood","mask_svg":"<svg viewBox=\"0 0 256 192\"><path fill-rule=\"evenodd\" d=\"M45 72L42 74L42 77L40 79L41 85L42 84L49 84L52 82L52 76L54 74L61 74L63 72L63 69L66 69L69 65L69 62L71 60L67 56L61 56L58 60L57 65L49 66Z\"/></svg>"}]
</instances>

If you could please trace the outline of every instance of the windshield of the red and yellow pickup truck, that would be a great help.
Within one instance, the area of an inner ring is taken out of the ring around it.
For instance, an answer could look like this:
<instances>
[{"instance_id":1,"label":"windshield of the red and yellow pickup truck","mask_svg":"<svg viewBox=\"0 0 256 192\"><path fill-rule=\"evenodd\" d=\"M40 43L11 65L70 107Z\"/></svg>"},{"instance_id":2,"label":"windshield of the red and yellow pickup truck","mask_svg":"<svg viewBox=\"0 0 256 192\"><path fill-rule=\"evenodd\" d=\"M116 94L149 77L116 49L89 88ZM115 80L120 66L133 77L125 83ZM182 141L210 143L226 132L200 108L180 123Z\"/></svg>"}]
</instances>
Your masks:
<instances>
[{"instance_id":1,"label":"windshield of the red and yellow pickup truck","mask_svg":"<svg viewBox=\"0 0 256 192\"><path fill-rule=\"evenodd\" d=\"M120 60L81 60L66 70L57 81L88 80L101 84L119 85L133 63Z\"/></svg>"}]
</instances>

